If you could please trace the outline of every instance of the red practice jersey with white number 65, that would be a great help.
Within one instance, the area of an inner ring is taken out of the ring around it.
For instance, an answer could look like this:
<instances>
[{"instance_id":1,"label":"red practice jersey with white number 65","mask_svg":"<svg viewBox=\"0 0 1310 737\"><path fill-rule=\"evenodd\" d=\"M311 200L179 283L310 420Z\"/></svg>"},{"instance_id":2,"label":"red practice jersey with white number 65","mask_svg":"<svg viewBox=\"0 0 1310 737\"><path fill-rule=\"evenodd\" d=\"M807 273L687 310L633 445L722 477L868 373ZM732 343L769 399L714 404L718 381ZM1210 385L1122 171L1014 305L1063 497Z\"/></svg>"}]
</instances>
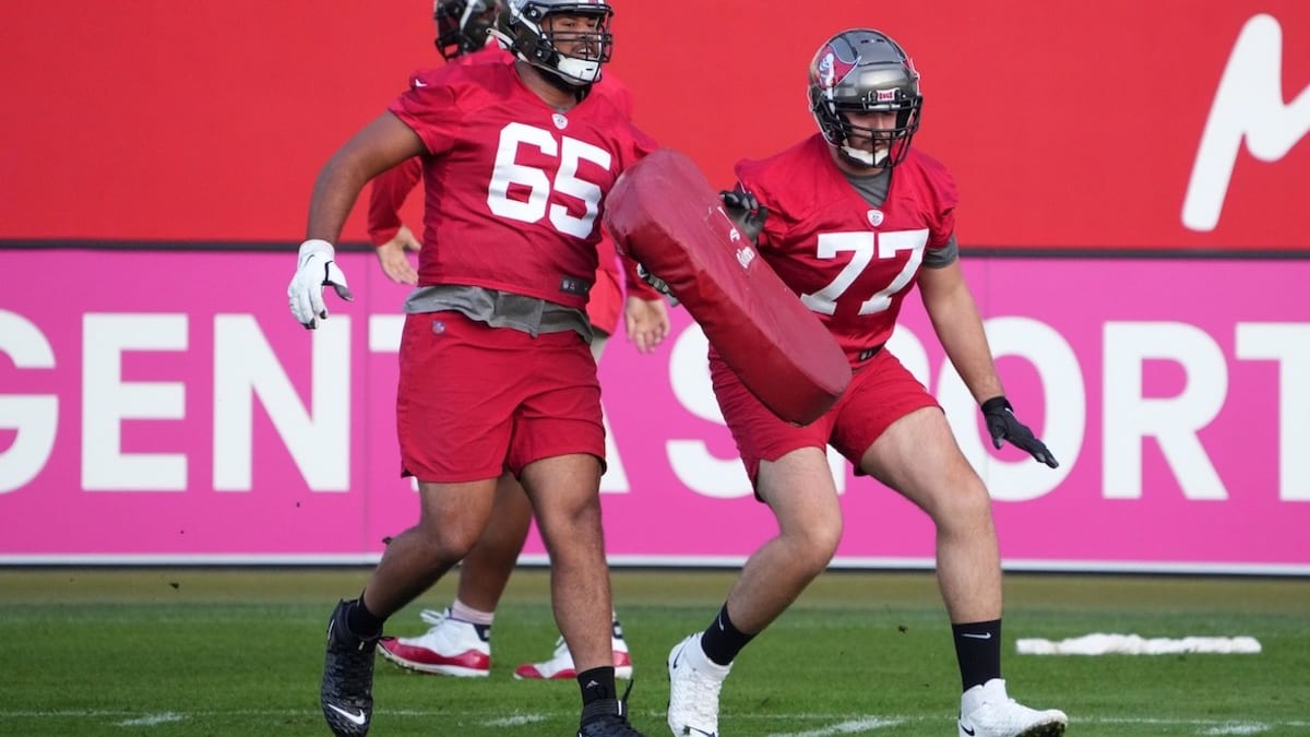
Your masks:
<instances>
[{"instance_id":1,"label":"red practice jersey with white number 65","mask_svg":"<svg viewBox=\"0 0 1310 737\"><path fill-rule=\"evenodd\" d=\"M390 106L430 153L422 159L419 285L481 286L582 308L597 268L604 195L656 144L609 94L557 113L502 56L418 72Z\"/></svg>"}]
</instances>

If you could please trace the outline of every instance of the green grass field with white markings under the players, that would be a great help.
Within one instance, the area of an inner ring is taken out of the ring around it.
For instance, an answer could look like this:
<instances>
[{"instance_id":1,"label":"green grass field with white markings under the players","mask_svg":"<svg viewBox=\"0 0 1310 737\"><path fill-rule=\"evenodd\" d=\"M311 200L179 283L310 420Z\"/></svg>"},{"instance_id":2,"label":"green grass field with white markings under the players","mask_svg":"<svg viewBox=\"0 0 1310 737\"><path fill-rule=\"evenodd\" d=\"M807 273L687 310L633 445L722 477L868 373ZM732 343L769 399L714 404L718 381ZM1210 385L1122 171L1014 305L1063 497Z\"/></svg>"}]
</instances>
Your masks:
<instances>
[{"instance_id":1,"label":"green grass field with white markings under the players","mask_svg":"<svg viewBox=\"0 0 1310 737\"><path fill-rule=\"evenodd\" d=\"M326 734L322 632L364 569L0 569L0 734ZM730 572L616 570L637 666L634 724L667 734L664 657L722 603ZM388 632L422 629L448 577ZM496 616L493 674L453 679L379 662L372 734L567 736L572 682L523 682L549 654L548 578L515 574ZM1195 577L1006 578L1011 695L1070 716L1072 736L1310 734L1310 581ZM1018 637L1250 635L1260 654L1038 657ZM739 658L727 737L954 736L959 699L946 619L926 573L832 572Z\"/></svg>"}]
</instances>

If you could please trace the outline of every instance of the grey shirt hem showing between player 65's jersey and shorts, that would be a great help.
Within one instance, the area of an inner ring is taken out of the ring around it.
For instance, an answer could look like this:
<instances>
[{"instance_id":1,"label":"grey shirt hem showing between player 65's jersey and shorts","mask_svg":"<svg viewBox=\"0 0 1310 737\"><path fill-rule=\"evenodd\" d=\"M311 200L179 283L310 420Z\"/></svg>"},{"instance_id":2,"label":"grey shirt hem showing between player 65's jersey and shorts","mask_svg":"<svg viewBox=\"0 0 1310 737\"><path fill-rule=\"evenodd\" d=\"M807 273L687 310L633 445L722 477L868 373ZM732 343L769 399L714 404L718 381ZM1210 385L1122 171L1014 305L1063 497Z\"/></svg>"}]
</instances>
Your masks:
<instances>
[{"instance_id":1,"label":"grey shirt hem showing between player 65's jersey and shorts","mask_svg":"<svg viewBox=\"0 0 1310 737\"><path fill-rule=\"evenodd\" d=\"M493 328L512 328L533 337L574 330L591 342L592 329L582 309L534 296L464 285L419 287L405 300L407 315L453 309Z\"/></svg>"}]
</instances>

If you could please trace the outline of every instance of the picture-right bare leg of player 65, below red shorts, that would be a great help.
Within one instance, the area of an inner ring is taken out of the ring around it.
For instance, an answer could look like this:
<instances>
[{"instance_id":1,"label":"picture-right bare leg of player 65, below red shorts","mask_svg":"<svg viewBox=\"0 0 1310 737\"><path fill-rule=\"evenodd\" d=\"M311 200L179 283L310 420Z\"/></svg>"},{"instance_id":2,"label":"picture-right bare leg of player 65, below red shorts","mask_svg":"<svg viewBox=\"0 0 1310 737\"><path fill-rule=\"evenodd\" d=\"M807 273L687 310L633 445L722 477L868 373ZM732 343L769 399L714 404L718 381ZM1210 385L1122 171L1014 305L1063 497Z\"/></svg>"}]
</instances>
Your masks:
<instances>
[{"instance_id":1,"label":"picture-right bare leg of player 65, below red shorts","mask_svg":"<svg viewBox=\"0 0 1310 737\"><path fill-rule=\"evenodd\" d=\"M586 454L546 458L523 469L550 553L555 623L579 673L612 666L609 565L600 526L600 462Z\"/></svg>"}]
</instances>

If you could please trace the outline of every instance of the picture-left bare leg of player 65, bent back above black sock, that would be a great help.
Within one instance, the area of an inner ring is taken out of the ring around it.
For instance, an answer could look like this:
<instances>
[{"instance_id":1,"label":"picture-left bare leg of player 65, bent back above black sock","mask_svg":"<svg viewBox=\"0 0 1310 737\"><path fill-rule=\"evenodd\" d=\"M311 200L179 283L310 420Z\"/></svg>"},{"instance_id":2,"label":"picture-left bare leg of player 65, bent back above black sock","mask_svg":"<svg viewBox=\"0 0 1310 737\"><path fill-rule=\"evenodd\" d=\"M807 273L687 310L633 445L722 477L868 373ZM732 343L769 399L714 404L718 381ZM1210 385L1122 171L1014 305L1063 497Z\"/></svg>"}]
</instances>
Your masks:
<instances>
[{"instance_id":1,"label":"picture-left bare leg of player 65, bent back above black sock","mask_svg":"<svg viewBox=\"0 0 1310 737\"><path fill-rule=\"evenodd\" d=\"M418 525L392 538L364 586L364 605L383 619L419 597L468 555L487 526L495 481L422 481L418 492Z\"/></svg>"}]
</instances>

